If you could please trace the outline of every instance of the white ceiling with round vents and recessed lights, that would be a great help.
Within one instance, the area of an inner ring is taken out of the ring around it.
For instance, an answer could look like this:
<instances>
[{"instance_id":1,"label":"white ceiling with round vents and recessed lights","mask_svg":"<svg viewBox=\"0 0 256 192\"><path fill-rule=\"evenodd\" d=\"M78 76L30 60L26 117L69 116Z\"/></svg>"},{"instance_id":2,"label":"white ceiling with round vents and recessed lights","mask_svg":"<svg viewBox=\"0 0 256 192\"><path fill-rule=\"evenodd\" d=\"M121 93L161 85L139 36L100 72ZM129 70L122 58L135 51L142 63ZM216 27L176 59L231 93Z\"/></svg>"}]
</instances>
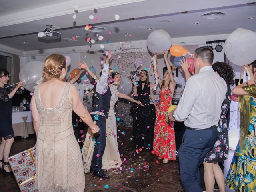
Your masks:
<instances>
[{"instance_id":1,"label":"white ceiling with round vents and recessed lights","mask_svg":"<svg viewBox=\"0 0 256 192\"><path fill-rule=\"evenodd\" d=\"M98 33L105 43L146 40L152 32L147 30L149 27L164 29L172 38L229 34L238 27L256 31L256 19L248 19L256 17L256 3L246 4L250 2L252 0L0 0L0 50L4 51L1 46L22 52L83 46L88 45L88 37L96 40L95 44L103 44L97 40L97 33L84 29L86 24L105 28L106 31ZM206 12L216 11L226 16L201 18ZM115 20L114 14L120 19ZM98 20L90 20L90 15ZM193 25L194 22L199 24ZM62 39L80 38L74 42L40 42L37 33L43 31L46 24L58 27L56 31L62 34ZM108 30L113 33L107 34Z\"/></svg>"}]
</instances>

